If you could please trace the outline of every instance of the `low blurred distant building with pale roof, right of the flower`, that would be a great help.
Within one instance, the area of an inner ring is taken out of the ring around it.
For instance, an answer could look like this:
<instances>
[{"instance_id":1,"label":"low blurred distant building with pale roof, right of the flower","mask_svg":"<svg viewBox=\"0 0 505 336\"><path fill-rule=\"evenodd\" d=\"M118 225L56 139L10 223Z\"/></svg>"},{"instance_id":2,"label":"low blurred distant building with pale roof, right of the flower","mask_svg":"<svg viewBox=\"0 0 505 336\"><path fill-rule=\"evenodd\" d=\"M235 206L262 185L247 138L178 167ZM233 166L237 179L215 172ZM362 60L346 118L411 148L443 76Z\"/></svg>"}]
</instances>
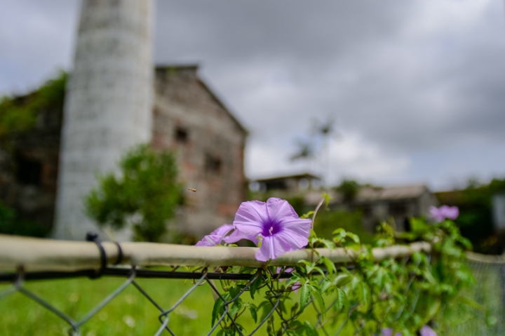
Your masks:
<instances>
[{"instance_id":1,"label":"low blurred distant building with pale roof, right of the flower","mask_svg":"<svg viewBox=\"0 0 505 336\"><path fill-rule=\"evenodd\" d=\"M360 210L363 213L363 227L375 231L375 225L382 220L393 218L398 231L409 229L408 219L429 214L430 206L437 206L436 196L424 185L405 187L361 187L351 201L344 202L341 194L328 191L333 197L330 208ZM305 196L306 203L316 206L321 200L318 192L311 191Z\"/></svg>"}]
</instances>

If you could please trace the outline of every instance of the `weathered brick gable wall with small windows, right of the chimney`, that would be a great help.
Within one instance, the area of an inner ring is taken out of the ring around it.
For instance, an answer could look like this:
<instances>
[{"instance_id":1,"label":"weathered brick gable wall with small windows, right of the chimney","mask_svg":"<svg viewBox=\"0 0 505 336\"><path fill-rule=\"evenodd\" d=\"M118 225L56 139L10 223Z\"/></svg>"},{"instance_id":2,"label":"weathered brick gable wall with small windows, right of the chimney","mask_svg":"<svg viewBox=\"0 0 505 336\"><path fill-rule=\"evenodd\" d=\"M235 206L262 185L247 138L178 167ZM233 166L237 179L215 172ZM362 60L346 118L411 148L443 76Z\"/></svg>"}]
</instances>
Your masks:
<instances>
[{"instance_id":1,"label":"weathered brick gable wall with small windows, right of the chimney","mask_svg":"<svg viewBox=\"0 0 505 336\"><path fill-rule=\"evenodd\" d=\"M210 93L196 67L156 69L153 143L177 152L187 204L180 229L202 236L231 223L245 199L246 131Z\"/></svg>"}]
</instances>

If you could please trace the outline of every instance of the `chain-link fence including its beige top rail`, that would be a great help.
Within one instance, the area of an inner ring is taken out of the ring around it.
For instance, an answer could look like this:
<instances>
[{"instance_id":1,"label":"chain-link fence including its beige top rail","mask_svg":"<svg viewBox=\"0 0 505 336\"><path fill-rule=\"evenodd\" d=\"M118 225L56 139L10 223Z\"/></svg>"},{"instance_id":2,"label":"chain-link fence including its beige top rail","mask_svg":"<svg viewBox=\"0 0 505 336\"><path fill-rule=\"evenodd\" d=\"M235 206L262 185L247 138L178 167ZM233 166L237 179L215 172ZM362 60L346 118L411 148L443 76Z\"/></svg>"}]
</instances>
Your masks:
<instances>
[{"instance_id":1,"label":"chain-link fence including its beige top rail","mask_svg":"<svg viewBox=\"0 0 505 336\"><path fill-rule=\"evenodd\" d=\"M429 252L429 245L373 252L379 262L389 257L407 260L419 251ZM349 251L319 252L336 264L351 261ZM349 317L359 313L365 297L347 302L342 314L346 303L340 302L338 292L323 303L311 295L303 310L299 293L286 302L281 295L288 288L261 281L290 278L290 267L313 257L310 252L279 258L275 273L272 267L260 267L253 254L250 248L95 245L0 236L0 268L11 269L0 274L2 335L361 335L365 323L351 325ZM174 262L178 266L168 266ZM503 316L504 266L471 265L478 283L486 285L476 288L476 300ZM291 290L297 291L296 284ZM415 302L405 302L398 317L413 307ZM503 321L488 328L479 320L490 318L484 315L447 330L447 335L504 335Z\"/></svg>"}]
</instances>

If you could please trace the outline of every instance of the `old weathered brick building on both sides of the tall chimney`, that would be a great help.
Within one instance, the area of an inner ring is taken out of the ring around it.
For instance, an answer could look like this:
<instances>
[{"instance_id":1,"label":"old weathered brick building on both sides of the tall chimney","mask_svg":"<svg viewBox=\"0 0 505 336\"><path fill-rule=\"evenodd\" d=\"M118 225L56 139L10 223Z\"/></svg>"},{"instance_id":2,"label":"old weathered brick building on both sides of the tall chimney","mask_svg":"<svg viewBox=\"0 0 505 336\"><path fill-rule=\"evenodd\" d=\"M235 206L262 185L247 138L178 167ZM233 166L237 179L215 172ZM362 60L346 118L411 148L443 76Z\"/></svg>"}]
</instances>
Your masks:
<instances>
[{"instance_id":1,"label":"old weathered brick building on both sides of the tall chimney","mask_svg":"<svg viewBox=\"0 0 505 336\"><path fill-rule=\"evenodd\" d=\"M247 130L197 71L196 65L156 67L152 145L175 151L180 180L197 190L185 194L177 222L198 237L231 222L245 199ZM21 106L29 99L15 101ZM33 129L0 135L0 200L48 228L55 217L62 109L63 100L55 100L38 112Z\"/></svg>"}]
</instances>

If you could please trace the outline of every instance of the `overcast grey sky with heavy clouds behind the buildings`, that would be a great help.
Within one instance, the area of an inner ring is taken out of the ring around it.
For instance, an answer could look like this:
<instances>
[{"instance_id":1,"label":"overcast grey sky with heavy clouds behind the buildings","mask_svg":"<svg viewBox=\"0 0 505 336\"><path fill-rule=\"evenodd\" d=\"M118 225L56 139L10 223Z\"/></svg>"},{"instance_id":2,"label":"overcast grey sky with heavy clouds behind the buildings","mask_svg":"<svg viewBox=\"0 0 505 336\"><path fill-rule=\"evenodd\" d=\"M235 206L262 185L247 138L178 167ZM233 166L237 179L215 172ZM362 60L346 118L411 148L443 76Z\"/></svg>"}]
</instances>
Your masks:
<instances>
[{"instance_id":1,"label":"overcast grey sky with heavy clouds behind the buildings","mask_svg":"<svg viewBox=\"0 0 505 336\"><path fill-rule=\"evenodd\" d=\"M79 1L2 0L0 94L71 69ZM159 0L155 62L201 77L250 130L248 177L291 163L314 119L335 119L330 181L505 177L503 0Z\"/></svg>"}]
</instances>

